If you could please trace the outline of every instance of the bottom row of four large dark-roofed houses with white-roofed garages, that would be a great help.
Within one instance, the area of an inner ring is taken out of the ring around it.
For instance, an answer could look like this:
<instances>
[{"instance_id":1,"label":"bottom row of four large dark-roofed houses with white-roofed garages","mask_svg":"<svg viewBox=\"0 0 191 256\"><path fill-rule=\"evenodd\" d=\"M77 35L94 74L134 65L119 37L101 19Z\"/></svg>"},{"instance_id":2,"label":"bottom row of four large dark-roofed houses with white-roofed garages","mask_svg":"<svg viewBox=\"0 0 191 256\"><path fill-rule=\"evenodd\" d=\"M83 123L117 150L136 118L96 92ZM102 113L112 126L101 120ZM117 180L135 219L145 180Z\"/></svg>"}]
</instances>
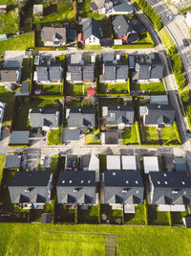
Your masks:
<instances>
[{"instance_id":1,"label":"bottom row of four large dark-roofed houses with white-roofed garages","mask_svg":"<svg viewBox=\"0 0 191 256\"><path fill-rule=\"evenodd\" d=\"M159 171L158 157L155 156L143 157L144 174L137 169L136 156L107 155L106 159L107 170L100 180L97 171L92 171L94 166L86 171L77 167L75 171L61 171L56 183L57 203L97 205L97 183L100 181L103 184L101 203L109 204L113 209L122 205L125 213L135 213L135 206L143 204L146 190L149 202L158 205L159 211L180 212L191 205L191 179L183 170ZM21 204L23 208L40 208L49 203L52 190L53 173L47 171L16 172L9 185L11 203Z\"/></svg>"}]
</instances>

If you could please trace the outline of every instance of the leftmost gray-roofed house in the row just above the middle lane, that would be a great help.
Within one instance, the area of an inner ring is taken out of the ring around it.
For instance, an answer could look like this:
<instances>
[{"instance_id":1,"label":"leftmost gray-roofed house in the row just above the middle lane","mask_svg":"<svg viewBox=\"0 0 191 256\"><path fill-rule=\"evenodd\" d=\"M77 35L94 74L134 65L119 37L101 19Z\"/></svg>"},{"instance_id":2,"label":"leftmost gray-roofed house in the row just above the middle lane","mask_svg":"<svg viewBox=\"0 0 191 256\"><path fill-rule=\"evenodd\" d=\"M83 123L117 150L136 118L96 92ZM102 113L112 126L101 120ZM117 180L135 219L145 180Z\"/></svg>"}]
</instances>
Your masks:
<instances>
[{"instance_id":1,"label":"leftmost gray-roofed house in the row just above the middle lane","mask_svg":"<svg viewBox=\"0 0 191 256\"><path fill-rule=\"evenodd\" d=\"M32 128L42 128L45 131L58 128L59 114L60 112L54 107L34 107L29 112L30 126Z\"/></svg>"}]
</instances>

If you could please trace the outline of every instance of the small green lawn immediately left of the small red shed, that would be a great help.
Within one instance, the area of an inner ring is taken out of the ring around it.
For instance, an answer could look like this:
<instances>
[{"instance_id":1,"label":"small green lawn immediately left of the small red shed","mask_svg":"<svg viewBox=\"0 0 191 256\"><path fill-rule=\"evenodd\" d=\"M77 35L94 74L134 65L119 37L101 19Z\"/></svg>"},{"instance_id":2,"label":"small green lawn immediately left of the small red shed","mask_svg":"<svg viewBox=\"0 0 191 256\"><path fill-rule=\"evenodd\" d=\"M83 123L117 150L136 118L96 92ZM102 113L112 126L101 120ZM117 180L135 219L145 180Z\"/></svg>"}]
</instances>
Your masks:
<instances>
[{"instance_id":1,"label":"small green lawn immediately left of the small red shed","mask_svg":"<svg viewBox=\"0 0 191 256\"><path fill-rule=\"evenodd\" d=\"M66 83L65 95L68 96L80 96L87 94L87 88L90 86L88 83Z\"/></svg>"}]
</instances>

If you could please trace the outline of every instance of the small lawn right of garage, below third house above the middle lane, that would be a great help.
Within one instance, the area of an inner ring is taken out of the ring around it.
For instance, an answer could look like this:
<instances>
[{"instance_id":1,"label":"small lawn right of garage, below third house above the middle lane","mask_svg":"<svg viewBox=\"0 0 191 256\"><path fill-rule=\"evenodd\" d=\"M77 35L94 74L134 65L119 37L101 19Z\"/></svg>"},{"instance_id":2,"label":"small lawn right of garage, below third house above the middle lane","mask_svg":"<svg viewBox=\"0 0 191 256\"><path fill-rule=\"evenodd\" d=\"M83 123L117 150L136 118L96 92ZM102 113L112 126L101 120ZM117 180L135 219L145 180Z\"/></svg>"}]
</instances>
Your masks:
<instances>
[{"instance_id":1,"label":"small lawn right of garage, below third house above the middle lane","mask_svg":"<svg viewBox=\"0 0 191 256\"><path fill-rule=\"evenodd\" d=\"M134 145L138 144L138 136L136 125L131 128L124 128L122 133L122 145Z\"/></svg>"}]
</instances>

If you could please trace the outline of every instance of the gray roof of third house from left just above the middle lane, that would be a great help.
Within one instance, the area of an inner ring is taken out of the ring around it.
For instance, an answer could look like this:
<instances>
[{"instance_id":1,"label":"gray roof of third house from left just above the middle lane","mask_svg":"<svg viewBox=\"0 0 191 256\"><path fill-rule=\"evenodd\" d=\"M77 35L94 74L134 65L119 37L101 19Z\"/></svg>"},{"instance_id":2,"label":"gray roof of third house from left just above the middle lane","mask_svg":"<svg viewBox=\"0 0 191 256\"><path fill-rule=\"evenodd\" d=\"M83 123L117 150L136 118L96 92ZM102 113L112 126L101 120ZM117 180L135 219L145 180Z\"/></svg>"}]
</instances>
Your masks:
<instances>
[{"instance_id":1,"label":"gray roof of third house from left just above the middle lane","mask_svg":"<svg viewBox=\"0 0 191 256\"><path fill-rule=\"evenodd\" d=\"M119 124L134 124L134 108L132 105L108 105L106 125Z\"/></svg>"}]
</instances>

